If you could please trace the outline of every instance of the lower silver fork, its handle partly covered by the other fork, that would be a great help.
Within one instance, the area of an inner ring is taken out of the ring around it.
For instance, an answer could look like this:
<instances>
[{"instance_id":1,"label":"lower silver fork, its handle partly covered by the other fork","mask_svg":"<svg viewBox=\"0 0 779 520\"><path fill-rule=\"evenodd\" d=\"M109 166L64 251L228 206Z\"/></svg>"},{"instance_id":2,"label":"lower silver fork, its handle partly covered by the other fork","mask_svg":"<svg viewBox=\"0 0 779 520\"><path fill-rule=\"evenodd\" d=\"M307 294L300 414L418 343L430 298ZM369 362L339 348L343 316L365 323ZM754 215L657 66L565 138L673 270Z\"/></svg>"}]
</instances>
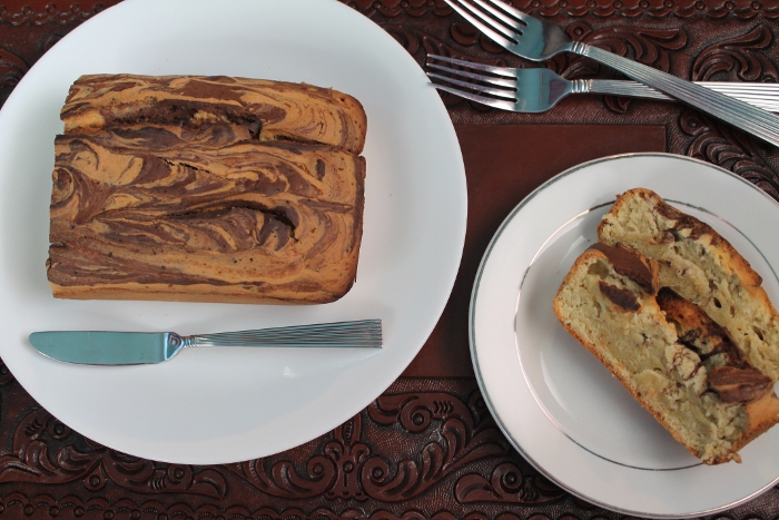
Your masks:
<instances>
[{"instance_id":1,"label":"lower silver fork, its handle partly covered by the other fork","mask_svg":"<svg viewBox=\"0 0 779 520\"><path fill-rule=\"evenodd\" d=\"M492 76L431 62L431 59L487 72ZM433 80L446 81L457 87L493 97L481 96L480 94L469 92L434 81L431 82L438 90L515 112L533 114L546 111L554 107L559 100L571 94L611 94L615 96L673 100L673 98L637 81L620 79L568 80L546 68L495 67L437 55L427 55L426 65L428 68L460 76L471 81L427 72L427 76ZM480 85L474 81L487 85ZM779 111L779 84L701 82L699 85L742 99L765 110Z\"/></svg>"}]
</instances>

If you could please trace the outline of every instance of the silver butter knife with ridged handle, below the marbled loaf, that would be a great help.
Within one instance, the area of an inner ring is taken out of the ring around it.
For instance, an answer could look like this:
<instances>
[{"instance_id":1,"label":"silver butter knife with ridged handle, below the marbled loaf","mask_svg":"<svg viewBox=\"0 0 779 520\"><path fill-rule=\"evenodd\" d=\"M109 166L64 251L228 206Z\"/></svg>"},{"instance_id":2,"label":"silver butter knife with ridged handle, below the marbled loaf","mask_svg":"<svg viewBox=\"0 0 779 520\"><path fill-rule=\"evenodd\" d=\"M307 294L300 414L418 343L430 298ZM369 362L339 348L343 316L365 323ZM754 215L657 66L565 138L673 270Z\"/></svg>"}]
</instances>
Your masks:
<instances>
[{"instance_id":1,"label":"silver butter knife with ridged handle, below the marbled loaf","mask_svg":"<svg viewBox=\"0 0 779 520\"><path fill-rule=\"evenodd\" d=\"M175 332L48 331L30 334L41 354L68 363L161 363L191 346L382 347L382 321L296 325L181 336Z\"/></svg>"}]
</instances>

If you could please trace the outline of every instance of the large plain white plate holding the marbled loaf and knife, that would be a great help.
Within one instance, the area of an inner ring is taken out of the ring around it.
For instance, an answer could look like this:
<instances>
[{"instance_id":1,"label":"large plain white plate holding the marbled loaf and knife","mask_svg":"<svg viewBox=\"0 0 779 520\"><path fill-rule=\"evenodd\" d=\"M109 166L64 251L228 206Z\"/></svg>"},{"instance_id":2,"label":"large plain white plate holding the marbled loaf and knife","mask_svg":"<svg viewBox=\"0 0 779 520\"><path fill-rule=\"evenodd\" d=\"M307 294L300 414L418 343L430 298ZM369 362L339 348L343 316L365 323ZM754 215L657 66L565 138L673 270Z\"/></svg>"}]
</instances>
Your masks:
<instances>
[{"instance_id":1,"label":"large plain white plate holding the marbled loaf and knife","mask_svg":"<svg viewBox=\"0 0 779 520\"><path fill-rule=\"evenodd\" d=\"M357 282L339 302L256 306L57 301L46 279L55 135L82 73L227 75L355 96L368 133ZM181 463L268 455L343 423L379 395L433 330L465 236L465 174L438 95L378 26L334 0L128 0L87 21L0 111L0 355L41 405L110 448ZM384 321L381 351L200 349L159 365L48 360L40 330L238 331Z\"/></svg>"}]
</instances>

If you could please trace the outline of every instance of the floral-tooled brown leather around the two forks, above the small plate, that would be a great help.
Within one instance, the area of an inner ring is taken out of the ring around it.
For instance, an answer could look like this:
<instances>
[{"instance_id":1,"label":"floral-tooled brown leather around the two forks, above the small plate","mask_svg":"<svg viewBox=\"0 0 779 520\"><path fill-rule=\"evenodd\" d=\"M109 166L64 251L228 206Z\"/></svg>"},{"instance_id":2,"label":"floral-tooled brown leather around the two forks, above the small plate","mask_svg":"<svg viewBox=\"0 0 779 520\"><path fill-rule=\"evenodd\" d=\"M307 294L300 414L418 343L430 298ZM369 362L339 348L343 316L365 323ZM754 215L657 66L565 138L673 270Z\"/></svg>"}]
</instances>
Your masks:
<instances>
[{"instance_id":1,"label":"floral-tooled brown leather around the two forks, above the small plate","mask_svg":"<svg viewBox=\"0 0 779 520\"><path fill-rule=\"evenodd\" d=\"M430 17L430 16L428 16ZM403 22L398 23L398 19ZM437 53L500 66L536 65L497 48L472 26L450 14L437 23L425 17L398 14L379 23L420 62ZM443 18L443 17L442 17ZM558 13L550 20L563 26L575 40L631 57L660 70L696 80L779 80L777 23L766 13L749 20L736 14L716 19L709 11L697 17L667 16L654 19L571 17ZM727 23L727 21L731 23ZM568 79L617 78L615 72L576 55L558 55L543 63ZM730 169L779 198L779 150L694 109L662 101L632 100L613 96L569 97L544 114L512 114L485 109L452 95L443 96L455 124L644 124L665 127L667 150L696 157Z\"/></svg>"}]
</instances>

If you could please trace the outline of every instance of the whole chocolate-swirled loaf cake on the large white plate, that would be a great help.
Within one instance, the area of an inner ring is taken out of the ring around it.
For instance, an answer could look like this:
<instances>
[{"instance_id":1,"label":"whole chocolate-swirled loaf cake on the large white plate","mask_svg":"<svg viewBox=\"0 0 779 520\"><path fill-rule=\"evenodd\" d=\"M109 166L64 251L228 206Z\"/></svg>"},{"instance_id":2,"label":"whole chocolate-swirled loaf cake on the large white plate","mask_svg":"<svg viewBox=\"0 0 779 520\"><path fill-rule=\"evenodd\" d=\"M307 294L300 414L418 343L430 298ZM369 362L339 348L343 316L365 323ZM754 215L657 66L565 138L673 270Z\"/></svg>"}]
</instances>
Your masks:
<instances>
[{"instance_id":1,"label":"whole chocolate-swirled loaf cake on the large white plate","mask_svg":"<svg viewBox=\"0 0 779 520\"><path fill-rule=\"evenodd\" d=\"M85 76L56 139L62 298L327 303L351 288L366 118L309 85Z\"/></svg>"}]
</instances>

